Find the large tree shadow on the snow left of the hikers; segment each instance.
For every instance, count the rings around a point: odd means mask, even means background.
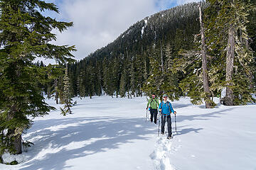
[[[28,149],[28,152],[31,152],[31,160],[24,162],[20,170],[64,169],[68,168],[65,162],[69,159],[106,152],[106,149],[116,149],[132,140],[149,140],[144,135],[153,134],[155,130],[143,120],[104,116],[35,121],[32,131],[26,135],[26,140],[35,144]],[[57,149],[57,152],[46,153],[40,157],[45,149]]]

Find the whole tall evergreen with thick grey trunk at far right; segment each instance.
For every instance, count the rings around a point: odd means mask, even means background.
[[[255,68],[252,67],[252,50],[247,45],[246,25],[253,6],[244,0],[209,0],[208,2],[210,3],[206,10],[208,45],[212,50],[214,60],[218,61],[210,71],[213,75],[210,81],[213,81],[216,89],[226,87],[225,105],[252,102],[254,99],[250,95],[253,93],[250,84]],[[220,67],[220,63],[223,63],[221,66],[225,68]],[[223,77],[220,75],[222,72],[225,72],[225,82],[222,81]],[[214,81],[217,81],[219,85]]]

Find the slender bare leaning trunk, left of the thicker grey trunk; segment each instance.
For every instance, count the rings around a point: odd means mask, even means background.
[[[200,17],[200,26],[201,26],[201,53],[202,53],[202,69],[203,69],[203,91],[206,94],[206,108],[212,108],[210,104],[210,87],[208,79],[208,70],[207,70],[207,58],[206,58],[206,40],[205,33],[203,28],[201,6],[199,5],[199,17]]]

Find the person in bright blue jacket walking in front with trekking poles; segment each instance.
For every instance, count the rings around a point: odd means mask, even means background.
[[[159,112],[161,113],[161,134],[164,135],[164,125],[167,121],[168,127],[168,137],[167,139],[171,139],[171,113],[176,114],[174,108],[172,108],[171,103],[167,101],[168,96],[164,94],[163,101],[159,104]]]

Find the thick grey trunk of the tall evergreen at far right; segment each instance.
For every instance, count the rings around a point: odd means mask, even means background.
[[[233,91],[230,88],[232,86],[232,74],[234,67],[234,58],[235,58],[235,27],[233,24],[228,28],[228,50],[227,50],[227,58],[226,58],[226,77],[225,81],[227,82],[227,91],[225,96],[225,105],[233,106]]]

